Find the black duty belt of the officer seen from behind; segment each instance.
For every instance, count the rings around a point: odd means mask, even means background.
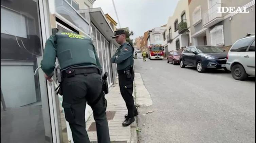
[[[100,70],[97,67],[88,67],[88,68],[73,68],[73,69],[67,69],[62,71],[61,76],[63,78],[66,77],[74,77],[75,75],[81,75],[81,74],[100,74]]]

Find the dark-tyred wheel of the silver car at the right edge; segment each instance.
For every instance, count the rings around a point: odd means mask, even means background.
[[[236,64],[232,66],[231,74],[232,74],[232,77],[236,80],[245,80],[248,77],[243,66],[240,64]]]

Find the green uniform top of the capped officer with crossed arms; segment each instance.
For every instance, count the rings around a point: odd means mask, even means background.
[[[128,42],[121,45],[111,57],[111,63],[117,64],[117,70],[133,66],[133,48]]]

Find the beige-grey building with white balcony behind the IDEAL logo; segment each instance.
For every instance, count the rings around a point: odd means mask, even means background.
[[[192,45],[226,51],[246,33],[255,33],[255,0],[189,0]],[[249,13],[218,13],[218,7],[246,7]]]

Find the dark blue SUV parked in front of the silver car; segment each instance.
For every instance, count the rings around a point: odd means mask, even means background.
[[[196,67],[199,73],[207,68],[223,68],[226,71],[227,53],[215,46],[190,46],[183,50],[180,56],[180,67],[186,65]]]

